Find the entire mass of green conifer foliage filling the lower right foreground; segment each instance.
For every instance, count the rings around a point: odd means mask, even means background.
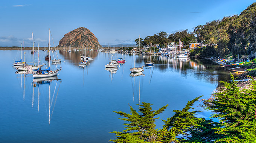
[[[139,113],[130,106],[130,114],[115,112],[125,118],[125,130],[114,131],[115,143],[256,143],[256,81],[251,77],[249,88],[241,89],[231,75],[232,82],[223,82],[223,90],[206,100],[205,107],[219,122],[197,118],[192,106],[201,97],[187,102],[174,116],[163,120],[162,129],[155,129],[156,115],[168,105],[152,110],[150,103],[142,103]]]

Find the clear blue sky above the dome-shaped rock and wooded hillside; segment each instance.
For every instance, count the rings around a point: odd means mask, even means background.
[[[253,0],[2,0],[0,46],[54,45],[64,34],[89,29],[102,45],[133,44],[164,31],[168,34],[223,17],[239,15]]]

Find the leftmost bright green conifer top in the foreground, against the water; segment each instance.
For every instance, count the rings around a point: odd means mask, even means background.
[[[157,138],[157,130],[155,129],[154,122],[156,119],[159,118],[154,117],[162,113],[168,105],[165,105],[156,111],[152,111],[151,105],[152,104],[150,103],[142,102],[142,105],[140,105],[141,107],[139,107],[139,112],[142,114],[137,113],[137,111],[134,110],[131,106],[131,114],[127,114],[121,111],[115,112],[120,116],[125,117],[119,119],[127,121],[129,123],[123,124],[126,126],[126,129],[123,130],[123,132],[111,132],[116,134],[118,137],[116,140],[110,141],[114,141],[116,143],[126,143],[129,142],[131,136],[135,136],[132,138],[136,138],[136,140],[141,140],[141,142],[153,142]]]

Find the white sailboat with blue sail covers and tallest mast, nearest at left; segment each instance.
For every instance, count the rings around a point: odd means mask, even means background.
[[[50,28],[49,28],[49,51],[50,51]],[[49,56],[50,56],[50,52],[49,52]],[[57,68],[56,70],[51,70],[50,69],[50,60],[49,60],[48,64],[49,64],[49,67],[45,70],[41,70],[41,68],[38,68],[38,70],[36,70],[38,72],[33,74],[33,77],[34,78],[48,78],[48,77],[58,75],[58,71],[61,70],[61,68],[60,69]],[[55,65],[56,65],[56,63],[55,63]],[[57,67],[57,65],[56,65],[56,67]]]

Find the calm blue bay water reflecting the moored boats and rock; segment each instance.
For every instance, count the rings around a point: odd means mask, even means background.
[[[25,61],[32,62],[30,51],[25,52]],[[219,80],[229,79],[229,73],[209,61],[162,56],[151,57],[154,67],[131,77],[132,55],[123,55],[126,63],[118,69],[107,70],[104,65],[110,53],[89,51],[94,60],[84,68],[78,66],[80,53],[58,51],[62,59],[58,80],[33,87],[31,74],[15,73],[12,67],[20,51],[0,50],[0,142],[106,143],[115,138],[110,131],[124,130],[124,122],[113,111],[130,113],[129,104],[137,109],[136,104],[142,102],[153,104],[153,110],[169,104],[160,114],[160,119],[166,120],[174,114],[172,110],[182,109],[195,97],[209,97]],[[45,55],[40,50],[41,62],[46,63]],[[121,57],[113,55],[115,59]],[[141,57],[142,64],[148,60]],[[135,61],[138,66],[138,55]],[[208,118],[210,114],[204,111],[197,116]],[[162,128],[163,122],[157,120],[156,124]]]

